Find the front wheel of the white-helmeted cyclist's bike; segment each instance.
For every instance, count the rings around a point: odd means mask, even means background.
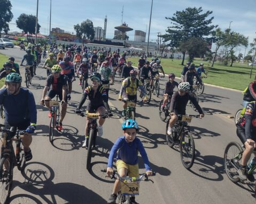
[[[189,131],[184,131],[180,138],[180,158],[183,166],[189,169],[195,160],[195,141]],[[186,141],[187,139],[187,141]],[[185,158],[188,158],[187,161]]]

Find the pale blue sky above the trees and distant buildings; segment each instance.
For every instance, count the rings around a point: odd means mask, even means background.
[[[38,0],[38,23],[43,35],[49,33],[50,0]],[[13,19],[10,23],[11,31],[20,31],[15,21],[21,13],[36,15],[37,0],[10,0],[12,4]],[[133,31],[127,32],[129,40],[134,40],[134,30],[147,31],[150,19],[150,0],[52,0],[51,27],[61,28],[74,32],[74,25],[80,24],[86,19],[93,22],[94,27],[104,28],[104,20],[107,15],[106,38],[114,37],[116,26],[126,22]],[[165,17],[172,17],[176,11],[185,10],[187,7],[202,7],[203,12],[212,11],[214,16],[212,24],[219,25],[225,30],[229,27],[235,32],[249,37],[249,43],[256,38],[256,1],[255,0],[153,0],[149,41],[157,40],[157,32],[166,33],[171,21]],[[230,23],[231,22],[231,23]],[[241,52],[242,49],[239,47]]]

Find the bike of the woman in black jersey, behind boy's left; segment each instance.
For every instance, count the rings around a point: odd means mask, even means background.
[[[89,138],[86,140],[86,147],[87,147],[87,160],[86,160],[86,169],[88,171],[91,171],[91,160],[92,160],[92,150],[95,149],[96,146],[96,138],[97,138],[97,132],[98,132],[98,124],[97,119],[99,119],[99,113],[88,113],[87,111],[85,113],[80,113],[82,117],[90,118],[88,123],[88,133],[86,135],[89,135]],[[105,115],[102,116],[103,118],[109,117],[108,112],[106,112]]]

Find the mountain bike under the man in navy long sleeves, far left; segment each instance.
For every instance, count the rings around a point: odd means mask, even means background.
[[[4,127],[4,125],[0,125]],[[8,199],[12,190],[13,168],[18,167],[19,171],[25,168],[25,152],[22,147],[20,135],[25,134],[26,131],[15,130],[14,127],[2,130],[1,141],[2,154],[0,162],[0,203],[9,203]],[[12,141],[16,143],[16,151],[14,152]]]

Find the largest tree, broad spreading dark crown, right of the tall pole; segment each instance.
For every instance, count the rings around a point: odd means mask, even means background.
[[[201,38],[210,43],[213,38],[209,37],[209,35],[212,34],[213,29],[218,25],[211,25],[214,17],[206,19],[212,14],[212,11],[202,12],[202,7],[188,7],[183,11],[177,11],[171,18],[165,17],[165,19],[171,20],[171,24],[173,25],[166,29],[167,33],[165,35],[162,35],[164,42],[170,41],[168,46],[172,48],[178,48],[182,41],[187,41],[192,37]],[[181,64],[183,65],[185,52],[182,52],[182,54]]]

